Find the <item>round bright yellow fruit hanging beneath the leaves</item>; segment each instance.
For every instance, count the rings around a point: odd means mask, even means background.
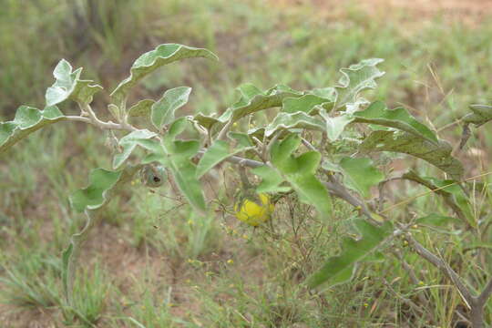
[[[270,201],[270,197],[265,193],[259,194],[256,200],[244,198],[234,205],[236,218],[253,227],[269,220],[273,209],[274,206]]]

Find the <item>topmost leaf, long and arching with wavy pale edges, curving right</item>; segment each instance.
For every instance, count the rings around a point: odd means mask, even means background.
[[[118,87],[111,93],[111,97],[115,103],[119,105],[125,97],[128,90],[135,86],[143,77],[147,77],[150,73],[167,65],[184,58],[204,57],[212,60],[219,60],[210,50],[203,48],[195,48],[178,44],[164,44],[157,46],[137,58],[130,68],[130,76],[125,78]]]

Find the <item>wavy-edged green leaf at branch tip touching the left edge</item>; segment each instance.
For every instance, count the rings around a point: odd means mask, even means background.
[[[0,123],[0,154],[39,128],[66,119],[56,106],[44,110],[21,106],[12,121]]]

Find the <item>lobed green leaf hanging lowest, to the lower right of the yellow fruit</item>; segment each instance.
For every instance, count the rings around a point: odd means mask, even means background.
[[[393,231],[389,221],[377,227],[365,220],[354,220],[354,225],[361,234],[361,238],[355,241],[345,237],[342,241],[340,255],[333,256],[323,264],[323,267],[308,278],[310,288],[316,288],[323,284],[329,288],[335,284],[348,282],[355,270],[358,261],[363,261],[369,256]]]

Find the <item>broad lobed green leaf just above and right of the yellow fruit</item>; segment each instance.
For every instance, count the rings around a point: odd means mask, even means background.
[[[332,201],[323,183],[315,177],[321,154],[308,151],[294,157],[293,152],[300,144],[301,138],[295,134],[276,141],[272,145],[272,165],[292,185],[302,202],[314,205],[319,214],[326,217],[332,212]]]

